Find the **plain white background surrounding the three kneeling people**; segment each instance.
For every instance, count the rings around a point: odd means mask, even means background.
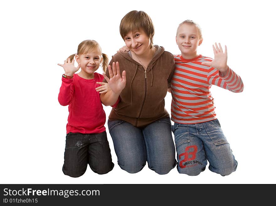
[[[275,7],[271,1],[5,1],[1,3],[0,182],[86,184],[276,183]],[[62,171],[68,106],[57,100],[63,69],[57,63],[86,39],[111,56],[124,45],[119,24],[143,10],[154,26],[154,44],[178,54],[175,34],[186,19],[199,23],[199,53],[214,57],[212,44],[227,45],[228,65],[245,85],[239,94],[213,86],[217,117],[238,161],[236,172],[199,176],[176,168],[158,175],[147,165],[136,174],[121,170],[108,133],[113,171],[79,178]],[[273,20],[274,19],[274,20]],[[99,69],[97,72],[102,73]],[[166,97],[170,111],[171,96]],[[274,105],[274,106],[273,106]],[[107,117],[110,107],[104,107]],[[107,128],[107,124],[105,125]]]

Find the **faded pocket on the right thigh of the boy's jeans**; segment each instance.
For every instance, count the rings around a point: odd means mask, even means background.
[[[203,124],[207,134],[215,145],[229,144],[226,137],[224,136],[218,120],[215,119],[209,122],[204,122]]]

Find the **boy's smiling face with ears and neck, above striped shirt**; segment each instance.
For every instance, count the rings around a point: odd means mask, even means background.
[[[198,56],[197,47],[203,39],[200,38],[199,30],[194,24],[184,23],[180,25],[175,40],[183,58],[193,59]]]

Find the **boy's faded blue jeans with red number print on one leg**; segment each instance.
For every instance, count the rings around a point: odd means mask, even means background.
[[[179,173],[199,175],[205,170],[207,160],[209,170],[222,176],[236,171],[238,162],[217,119],[197,124],[175,123],[172,131]]]

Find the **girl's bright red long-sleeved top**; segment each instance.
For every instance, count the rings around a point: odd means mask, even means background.
[[[69,116],[66,133],[101,133],[105,131],[105,112],[96,87],[104,76],[94,73],[94,79],[83,79],[77,74],[73,79],[62,78],[58,101],[68,106]]]

